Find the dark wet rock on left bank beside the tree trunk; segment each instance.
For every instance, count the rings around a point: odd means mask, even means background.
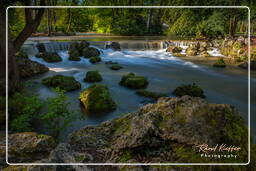
[[[49,71],[45,65],[31,61],[29,58],[16,58],[16,60],[21,78],[29,78]]]

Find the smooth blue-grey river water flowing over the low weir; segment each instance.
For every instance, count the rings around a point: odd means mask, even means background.
[[[55,96],[49,88],[40,85],[40,81],[48,76],[63,74],[74,76],[82,85],[81,90],[68,92],[70,108],[77,112],[77,118],[72,120],[72,124],[61,132],[60,140],[65,141],[67,135],[86,125],[97,125],[103,121],[110,120],[128,112],[137,110],[141,105],[148,103],[148,99],[135,94],[131,90],[120,86],[118,83],[122,75],[129,72],[146,76],[149,80],[148,90],[168,93],[181,84],[196,83],[205,91],[207,100],[214,103],[225,103],[235,106],[244,119],[248,118],[248,77],[232,69],[223,72],[222,68],[213,68],[205,65],[183,61],[165,52],[167,46],[165,41],[145,41],[145,40],[122,40],[120,41],[122,51],[104,49],[106,41],[90,41],[91,46],[97,47],[101,51],[102,62],[91,64],[88,59],[81,58],[81,61],[69,61],[67,49],[69,41],[44,41],[47,51],[58,52],[63,61],[58,63],[47,63],[34,55],[37,53],[35,44],[37,41],[30,40],[25,43],[24,49],[29,53],[30,59],[45,64],[50,71],[30,79],[34,87],[33,91],[46,99]],[[180,46],[187,47],[188,43],[180,43]],[[220,55],[217,49],[210,53],[215,56]],[[106,61],[118,62],[123,69],[113,71],[104,63]],[[114,112],[87,115],[80,108],[78,100],[79,93],[90,86],[90,83],[83,82],[85,74],[89,70],[98,70],[102,77],[102,84],[108,86],[111,96],[117,103]],[[225,70],[225,69],[224,69]],[[256,82],[255,79],[251,80]],[[255,98],[255,96],[252,96]],[[255,111],[255,101],[251,108]],[[253,118],[255,121],[255,118]],[[255,127],[253,126],[255,132]]]

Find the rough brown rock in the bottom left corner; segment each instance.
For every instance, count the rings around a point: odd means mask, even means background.
[[[11,163],[29,163],[46,158],[57,145],[53,137],[35,132],[9,134],[8,143],[8,161]],[[0,146],[0,156],[5,154],[2,148],[5,147]]]

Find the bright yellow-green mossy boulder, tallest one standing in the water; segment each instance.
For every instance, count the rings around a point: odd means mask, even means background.
[[[91,85],[80,94],[79,100],[89,113],[110,112],[116,109],[116,104],[105,85]]]

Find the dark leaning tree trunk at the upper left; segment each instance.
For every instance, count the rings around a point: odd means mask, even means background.
[[[29,5],[36,5],[33,4],[37,3],[37,1],[19,1],[19,0],[10,0],[7,3],[0,1],[0,33],[2,40],[5,40],[5,33],[6,33],[6,17],[5,17],[5,11],[6,8],[10,5],[14,5],[15,3],[23,3],[23,5],[29,6]],[[40,0],[39,3],[41,6],[45,5],[45,0]],[[37,29],[37,27],[40,24],[40,21],[42,19],[42,16],[44,14],[44,8],[39,9],[32,9],[32,8],[25,8],[25,27],[20,32],[20,34],[12,40],[10,36],[8,37],[8,91],[14,92],[17,85],[19,84],[19,72],[17,69],[17,63],[15,59],[15,53],[17,50],[20,49],[22,44],[25,42],[25,40]],[[5,57],[6,57],[6,41],[0,42],[0,64],[1,64],[1,79],[5,79]]]

